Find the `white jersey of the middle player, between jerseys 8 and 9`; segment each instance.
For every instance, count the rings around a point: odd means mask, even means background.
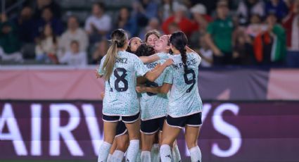
[[[146,64],[149,70],[155,68],[158,63],[164,63],[165,60],[155,61]],[[160,87],[163,83],[170,83],[170,67],[165,68],[163,73],[155,80],[155,82],[146,82],[146,87]],[[142,93],[140,100],[141,106],[141,120],[151,120],[154,118],[161,118],[167,115],[168,94],[153,94],[150,92]]]

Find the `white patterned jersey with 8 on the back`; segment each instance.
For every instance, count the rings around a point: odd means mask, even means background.
[[[98,69],[100,75],[103,57]],[[105,97],[103,99],[103,114],[106,116],[134,116],[139,113],[139,101],[136,94],[136,75],[144,76],[148,68],[134,54],[119,51],[115,58],[115,66],[109,80],[105,81]]]

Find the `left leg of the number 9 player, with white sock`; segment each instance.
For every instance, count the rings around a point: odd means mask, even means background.
[[[172,118],[167,116],[163,126],[162,145],[160,147],[160,158],[162,162],[171,162],[171,146],[184,125],[184,118]]]

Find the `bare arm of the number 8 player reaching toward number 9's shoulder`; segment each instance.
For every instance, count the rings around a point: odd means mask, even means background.
[[[147,80],[154,82],[163,73],[165,68],[167,68],[167,66],[171,66],[172,63],[173,61],[170,58],[167,61],[165,61],[165,63],[163,63],[162,65],[158,64],[157,66],[155,66],[155,68],[149,71],[148,73],[146,73],[144,77],[146,77]]]

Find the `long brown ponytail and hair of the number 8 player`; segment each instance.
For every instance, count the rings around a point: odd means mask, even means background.
[[[103,63],[102,70],[104,71],[104,78],[108,80],[110,75],[113,73],[113,67],[115,64],[115,58],[117,58],[117,48],[122,48],[126,44],[127,35],[125,30],[118,29],[114,30],[111,34],[111,45],[107,51],[106,59]]]

